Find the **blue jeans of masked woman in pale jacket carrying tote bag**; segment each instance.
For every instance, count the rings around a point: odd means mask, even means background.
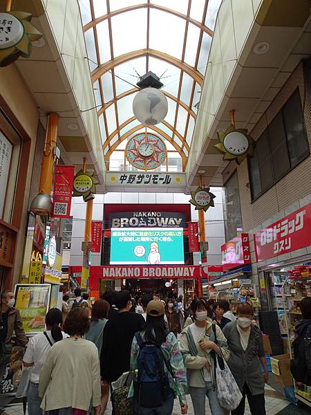
[[[209,407],[213,415],[224,415],[224,409],[220,407],[217,390],[211,382],[205,382],[205,387],[189,387],[189,392],[194,405],[194,415],[205,415],[205,396],[209,400]]]

